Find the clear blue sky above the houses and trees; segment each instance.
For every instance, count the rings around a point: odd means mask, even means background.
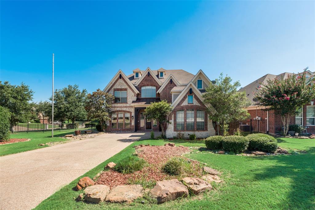
[[[267,73],[315,71],[314,1],[1,1],[0,80],[34,101],[78,84],[103,89],[135,68],[220,72],[242,86]]]

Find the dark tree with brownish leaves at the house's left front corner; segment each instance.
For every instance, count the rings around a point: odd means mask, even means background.
[[[88,119],[98,120],[100,126],[105,130],[105,122],[110,120],[109,108],[112,107],[114,96],[97,89],[92,94],[88,94],[85,110]]]

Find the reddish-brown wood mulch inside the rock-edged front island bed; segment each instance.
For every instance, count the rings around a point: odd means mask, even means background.
[[[145,159],[149,166],[144,167],[140,171],[130,174],[122,174],[114,170],[108,170],[101,173],[96,184],[105,184],[111,189],[123,184],[130,184],[134,180],[146,179],[146,181],[162,181],[164,179],[174,179],[176,176],[171,176],[164,173],[161,167],[169,158],[180,156],[181,154],[191,151],[188,147],[171,147],[171,146],[144,146],[139,149],[138,156]],[[192,167],[199,167],[199,162],[191,161]],[[199,171],[200,175],[202,171]]]

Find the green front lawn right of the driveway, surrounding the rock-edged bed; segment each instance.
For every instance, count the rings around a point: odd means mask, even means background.
[[[115,156],[93,168],[83,176],[40,203],[35,209],[315,209],[315,140],[279,139],[279,146],[306,153],[278,156],[217,155],[206,151],[186,156],[222,172],[224,183],[198,199],[184,198],[160,205],[86,204],[74,198],[82,191],[73,191],[84,176],[94,177],[108,162],[118,162],[132,154],[133,145],[163,145],[168,141],[137,141]],[[176,145],[202,146],[200,141],[172,141]]]

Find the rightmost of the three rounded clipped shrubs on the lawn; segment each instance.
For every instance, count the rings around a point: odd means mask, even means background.
[[[267,134],[254,133],[245,137],[249,140],[248,150],[274,152],[278,148],[277,140]]]

